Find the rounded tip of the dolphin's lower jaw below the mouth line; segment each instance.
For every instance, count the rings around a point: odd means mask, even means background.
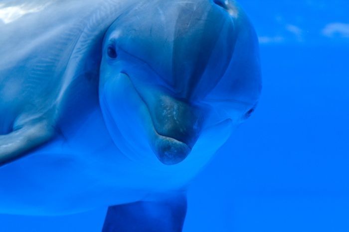
[[[174,138],[162,136],[156,132],[156,140],[153,146],[158,159],[166,165],[174,165],[183,161],[191,152],[191,148]]]

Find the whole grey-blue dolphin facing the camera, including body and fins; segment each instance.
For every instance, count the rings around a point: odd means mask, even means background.
[[[260,95],[238,4],[4,0],[0,11],[0,213],[115,205],[104,231],[139,217],[135,231],[151,231],[148,211],[180,231],[185,186]]]

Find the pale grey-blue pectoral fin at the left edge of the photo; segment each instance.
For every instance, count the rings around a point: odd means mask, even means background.
[[[52,136],[53,128],[45,121],[0,135],[0,166],[45,143]]]

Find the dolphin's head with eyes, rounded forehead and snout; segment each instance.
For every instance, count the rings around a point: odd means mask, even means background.
[[[217,150],[254,110],[260,89],[256,36],[232,1],[143,1],[105,35],[101,108],[132,159],[177,164],[208,130],[204,146]]]

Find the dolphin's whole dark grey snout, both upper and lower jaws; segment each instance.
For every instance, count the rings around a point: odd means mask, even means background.
[[[154,143],[157,157],[164,164],[179,163],[191,152],[200,135],[201,110],[187,102],[161,95],[151,111],[158,134]]]

